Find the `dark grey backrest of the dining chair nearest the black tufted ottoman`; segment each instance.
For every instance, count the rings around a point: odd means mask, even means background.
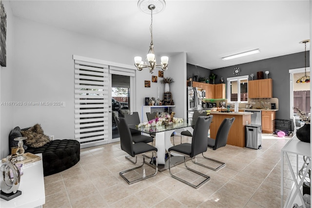
[[[130,129],[124,118],[115,118],[120,136],[121,149],[134,157],[133,142]]]

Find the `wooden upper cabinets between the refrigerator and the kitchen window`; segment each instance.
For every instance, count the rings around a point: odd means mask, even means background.
[[[193,82],[193,87],[200,87],[206,91],[206,98],[225,99],[225,84],[209,84]]]

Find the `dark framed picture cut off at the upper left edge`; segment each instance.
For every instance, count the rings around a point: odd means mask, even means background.
[[[6,13],[2,1],[0,1],[0,65],[6,66]]]

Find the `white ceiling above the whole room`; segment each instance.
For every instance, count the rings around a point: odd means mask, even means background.
[[[137,8],[137,0],[10,3],[20,18],[116,42],[141,56],[149,49],[151,17]],[[302,52],[299,42],[311,39],[309,25],[309,0],[166,0],[165,10],[153,15],[156,61],[186,52],[188,63],[215,69]],[[257,48],[258,54],[221,59]]]

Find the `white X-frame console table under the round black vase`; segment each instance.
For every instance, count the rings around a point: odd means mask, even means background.
[[[289,160],[289,154],[296,155],[296,170],[293,170],[291,162]],[[298,175],[298,156],[306,156],[308,160],[311,161],[311,152],[310,152],[310,143],[301,142],[298,140],[296,135],[282,148],[281,150],[281,208],[292,208],[294,203],[297,203],[299,206],[303,205],[306,208],[302,192],[300,188],[304,182],[304,178],[307,176],[308,170],[311,168],[311,162],[307,165],[305,172],[303,173],[302,178],[300,179]],[[284,205],[284,157],[286,159],[287,165],[292,173],[292,179],[294,181],[291,193],[286,199]]]

